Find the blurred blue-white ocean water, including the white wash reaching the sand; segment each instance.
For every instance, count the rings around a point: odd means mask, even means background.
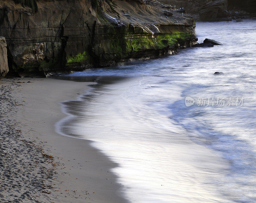
[[[95,83],[60,133],[119,163],[131,202],[256,202],[256,20],[196,32],[223,45],[62,76]]]

